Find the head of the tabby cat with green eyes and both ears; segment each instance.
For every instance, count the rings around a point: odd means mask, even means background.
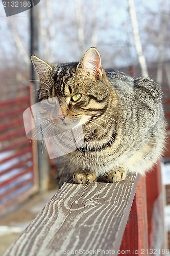
[[[40,78],[38,101],[45,100],[48,118],[68,129],[80,120],[95,125],[92,117],[106,111],[110,94],[98,50],[89,48],[80,62],[51,64],[36,56],[31,60]]]

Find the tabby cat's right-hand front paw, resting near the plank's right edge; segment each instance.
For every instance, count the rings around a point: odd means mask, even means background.
[[[125,180],[127,176],[127,173],[125,172],[124,168],[118,167],[110,171],[106,175],[106,180],[108,182],[118,182],[121,180]]]

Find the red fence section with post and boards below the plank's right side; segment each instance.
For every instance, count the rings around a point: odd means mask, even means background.
[[[167,252],[162,200],[158,163],[146,177],[140,177],[120,251],[130,250],[132,255],[163,255],[164,249]]]

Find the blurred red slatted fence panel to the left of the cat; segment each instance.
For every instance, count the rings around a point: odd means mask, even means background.
[[[22,117],[31,104],[30,88],[27,96],[0,103],[0,216],[37,190],[35,147]]]

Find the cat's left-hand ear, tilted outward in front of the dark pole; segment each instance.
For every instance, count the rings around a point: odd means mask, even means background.
[[[36,71],[38,72],[40,79],[43,79],[43,77],[49,75],[53,71],[53,66],[43,61],[42,59],[39,59],[38,57],[32,55],[31,60]]]

